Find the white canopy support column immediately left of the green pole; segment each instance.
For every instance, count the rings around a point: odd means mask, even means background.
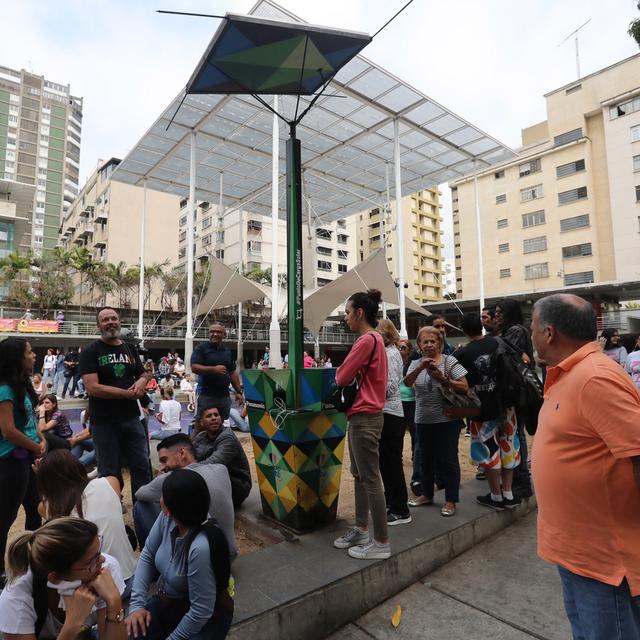
[[[273,109],[278,111],[278,96],[273,96]],[[269,367],[282,368],[280,352],[280,277],[278,273],[278,174],[280,161],[280,130],[278,116],[273,114],[271,144],[271,325],[269,326]]]

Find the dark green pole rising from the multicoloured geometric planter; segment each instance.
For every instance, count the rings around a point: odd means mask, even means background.
[[[287,315],[289,319],[289,369],[293,378],[294,406],[298,407],[302,371],[304,323],[302,309],[302,177],[300,140],[295,124],[287,140]]]

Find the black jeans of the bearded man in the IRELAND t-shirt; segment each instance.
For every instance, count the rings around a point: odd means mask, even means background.
[[[115,476],[122,482],[122,458],[126,457],[131,473],[131,497],[151,482],[149,440],[139,417],[110,424],[91,424],[91,434],[98,456],[98,475]]]

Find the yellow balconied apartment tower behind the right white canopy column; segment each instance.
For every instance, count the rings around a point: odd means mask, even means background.
[[[440,192],[425,189],[402,198],[404,275],[407,294],[418,304],[436,302],[444,295]],[[397,217],[395,201],[391,211],[376,208],[357,216],[358,259],[384,248],[389,272],[398,277]]]

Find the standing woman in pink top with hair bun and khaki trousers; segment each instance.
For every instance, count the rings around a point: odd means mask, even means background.
[[[334,540],[337,549],[348,549],[353,558],[388,558],[387,506],[384,498],[378,448],[382,433],[382,408],[386,398],[387,355],[382,336],[374,331],[381,295],[376,289],[354,293],[345,306],[344,320],[359,333],[345,361],[336,370],[336,383],[345,386],[357,376],[360,388],[347,409],[351,473],[355,483],[356,525]],[[368,532],[369,513],[373,537]]]

